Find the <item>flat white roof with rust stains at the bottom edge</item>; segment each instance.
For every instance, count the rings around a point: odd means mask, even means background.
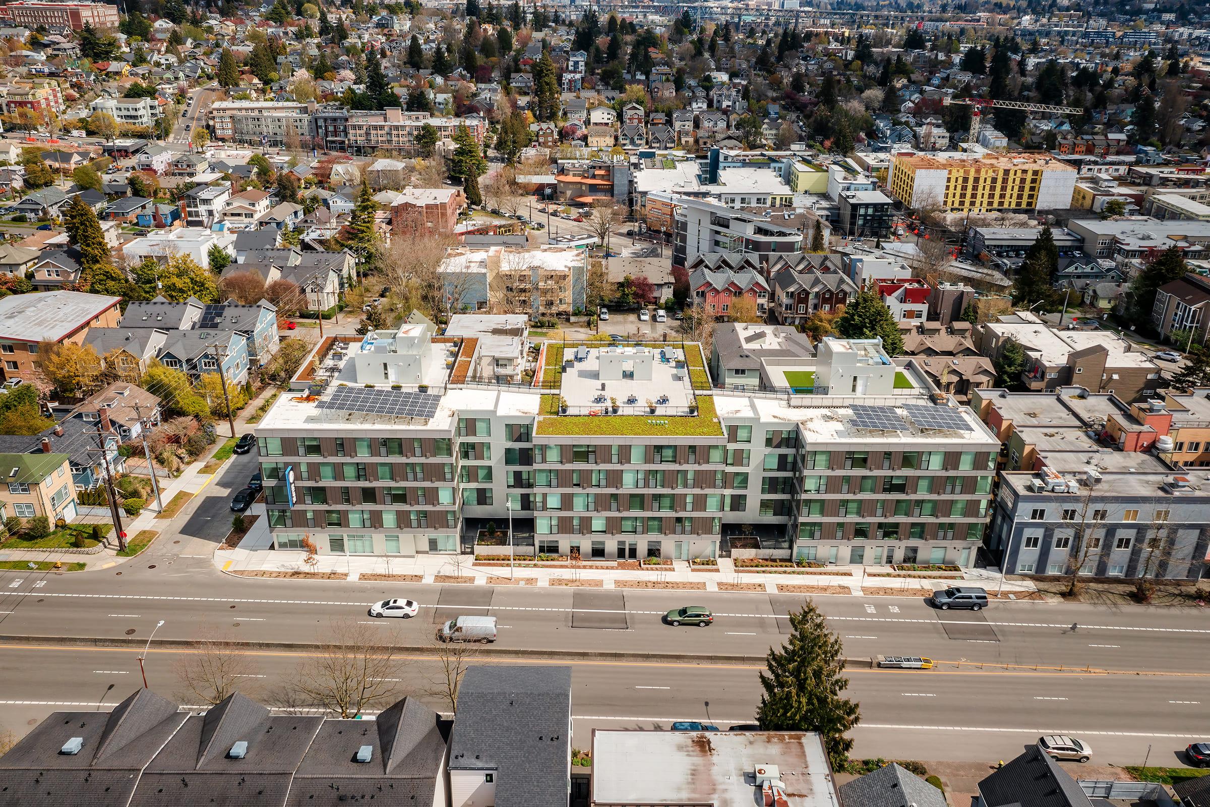
[[[776,767],[794,807],[839,807],[814,732],[593,732],[598,805],[761,805],[756,768]]]

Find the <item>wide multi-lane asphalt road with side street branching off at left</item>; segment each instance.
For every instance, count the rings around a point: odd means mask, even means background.
[[[759,665],[718,657],[759,657],[779,645],[788,630],[784,615],[805,599],[223,575],[209,558],[227,532],[231,494],[254,469],[254,457],[234,457],[134,561],[75,575],[0,572],[0,635],[139,639],[165,619],[157,640],[218,633],[249,641],[311,642],[330,630],[333,618],[347,617],[368,622],[385,640],[408,646],[427,645],[438,621],[489,612],[500,623],[496,650],[581,653],[571,659],[574,713],[577,742],[587,745],[597,726],[749,720],[760,694]],[[386,596],[417,600],[422,605],[419,617],[403,622],[368,617],[367,606]],[[854,733],[855,753],[863,756],[997,760],[1042,733],[1070,732],[1093,744],[1097,761],[1137,763],[1148,744],[1156,759],[1157,753],[1183,748],[1199,732],[1210,733],[1204,720],[1208,701],[1200,693],[1210,657],[1210,623],[1203,610],[1004,603],[980,613],[956,613],[935,611],[916,598],[819,596],[814,601],[851,657],[910,653],[947,662],[929,671],[851,673],[851,692],[863,711]],[[685,604],[711,607],[715,624],[662,624],[663,612]],[[1073,622],[1079,626],[1076,632]],[[699,658],[603,662],[603,651]],[[154,688],[180,694],[173,668],[182,655],[151,651],[149,682]],[[138,649],[129,647],[0,646],[0,681],[5,682],[0,727],[21,734],[30,720],[68,708],[52,702],[111,704],[121,699],[140,682],[137,656]],[[299,663],[293,652],[257,653],[253,659],[259,668],[255,675],[265,678],[249,679],[249,691],[269,701],[273,692],[265,685],[288,680]],[[497,661],[488,655],[484,659]],[[424,668],[424,661],[408,662],[401,686],[410,688],[401,694],[426,688]],[[1071,668],[1114,673],[1082,674]],[[421,682],[419,688],[414,681]]]

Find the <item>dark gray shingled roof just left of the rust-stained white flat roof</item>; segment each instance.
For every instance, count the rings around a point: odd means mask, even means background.
[[[570,667],[472,667],[457,694],[453,771],[501,771],[496,807],[567,799]]]

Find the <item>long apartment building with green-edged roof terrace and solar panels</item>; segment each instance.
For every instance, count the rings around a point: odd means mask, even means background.
[[[255,431],[278,548],[454,552],[511,517],[522,554],[974,561],[999,444],[877,340],[765,361],[806,394],[711,394],[696,344],[547,344],[534,386],[485,387],[474,342],[319,348]]]

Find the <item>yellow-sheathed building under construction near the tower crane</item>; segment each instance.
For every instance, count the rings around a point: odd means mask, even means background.
[[[1047,154],[898,154],[887,186],[909,207],[1067,209],[1077,171]]]

